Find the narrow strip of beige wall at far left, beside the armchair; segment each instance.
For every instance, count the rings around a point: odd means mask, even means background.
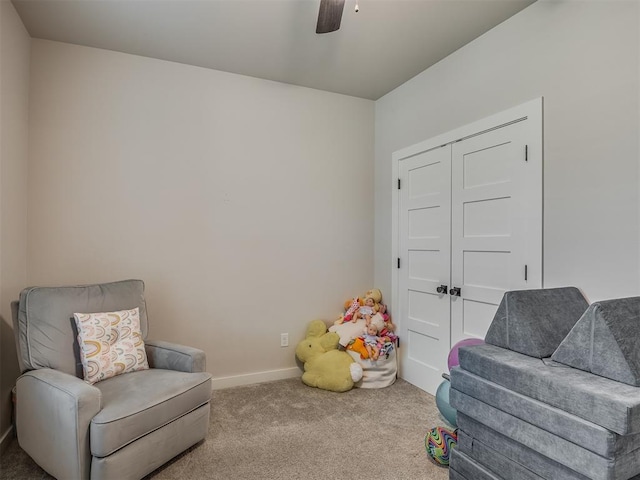
[[[11,300],[27,275],[30,38],[13,5],[0,2],[0,450],[11,426],[18,363]]]

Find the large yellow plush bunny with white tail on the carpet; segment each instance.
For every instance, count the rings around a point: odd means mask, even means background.
[[[344,351],[338,350],[340,337],[328,333],[322,320],[313,320],[307,337],[296,346],[296,357],[304,363],[302,381],[310,387],[332,392],[351,390],[362,378],[362,366]]]

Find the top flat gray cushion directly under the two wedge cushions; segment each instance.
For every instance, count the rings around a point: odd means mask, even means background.
[[[640,433],[640,388],[493,345],[463,347],[460,367],[620,435]]]

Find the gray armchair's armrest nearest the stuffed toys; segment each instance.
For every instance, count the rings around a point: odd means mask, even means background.
[[[206,356],[202,350],[161,340],[145,340],[147,360],[151,368],[179,372],[204,372]]]

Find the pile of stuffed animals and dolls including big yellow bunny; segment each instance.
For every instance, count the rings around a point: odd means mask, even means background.
[[[377,332],[377,345],[373,351],[365,344],[369,324],[374,324]],[[362,379],[363,369],[344,350],[358,352],[361,359],[371,361],[386,358],[397,340],[394,329],[382,303],[382,293],[377,288],[363,297],[347,300],[344,312],[329,332],[324,321],[314,320],[307,328],[306,338],[296,346],[296,357],[304,363],[302,381],[311,387],[334,392],[350,390]]]

